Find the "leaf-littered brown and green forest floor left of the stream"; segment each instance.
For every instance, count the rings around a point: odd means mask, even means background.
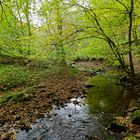
[[[11,128],[28,131],[36,119],[48,116],[53,105],[63,106],[73,97],[85,97],[88,77],[110,69],[102,60],[76,62],[83,71],[73,66],[24,65],[0,65],[0,140],[15,139]],[[136,128],[139,135],[139,126],[131,125],[127,116],[118,120]]]

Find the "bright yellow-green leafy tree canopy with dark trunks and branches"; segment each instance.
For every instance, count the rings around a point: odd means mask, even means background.
[[[134,74],[139,9],[136,0],[1,0],[0,55],[58,63],[103,58]]]

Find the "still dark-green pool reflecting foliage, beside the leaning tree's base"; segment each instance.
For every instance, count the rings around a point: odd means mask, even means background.
[[[89,79],[88,83],[94,87],[88,90],[86,99],[92,113],[106,112],[122,115],[130,103],[129,93],[116,81],[103,76]]]

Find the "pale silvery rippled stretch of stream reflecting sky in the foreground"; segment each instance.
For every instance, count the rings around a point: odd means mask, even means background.
[[[102,140],[118,140],[89,113],[83,102],[74,98],[63,107],[55,106],[50,117],[37,120],[29,132],[19,130],[17,140],[89,140],[92,135]]]

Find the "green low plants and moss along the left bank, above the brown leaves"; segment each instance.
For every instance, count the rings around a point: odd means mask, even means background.
[[[38,91],[40,85],[44,84],[43,82],[46,78],[59,75],[75,77],[77,73],[78,70],[76,68],[66,64],[55,65],[55,67],[52,66],[48,69],[34,69],[19,65],[1,65],[0,90],[3,95],[0,97],[0,103],[28,101]]]

